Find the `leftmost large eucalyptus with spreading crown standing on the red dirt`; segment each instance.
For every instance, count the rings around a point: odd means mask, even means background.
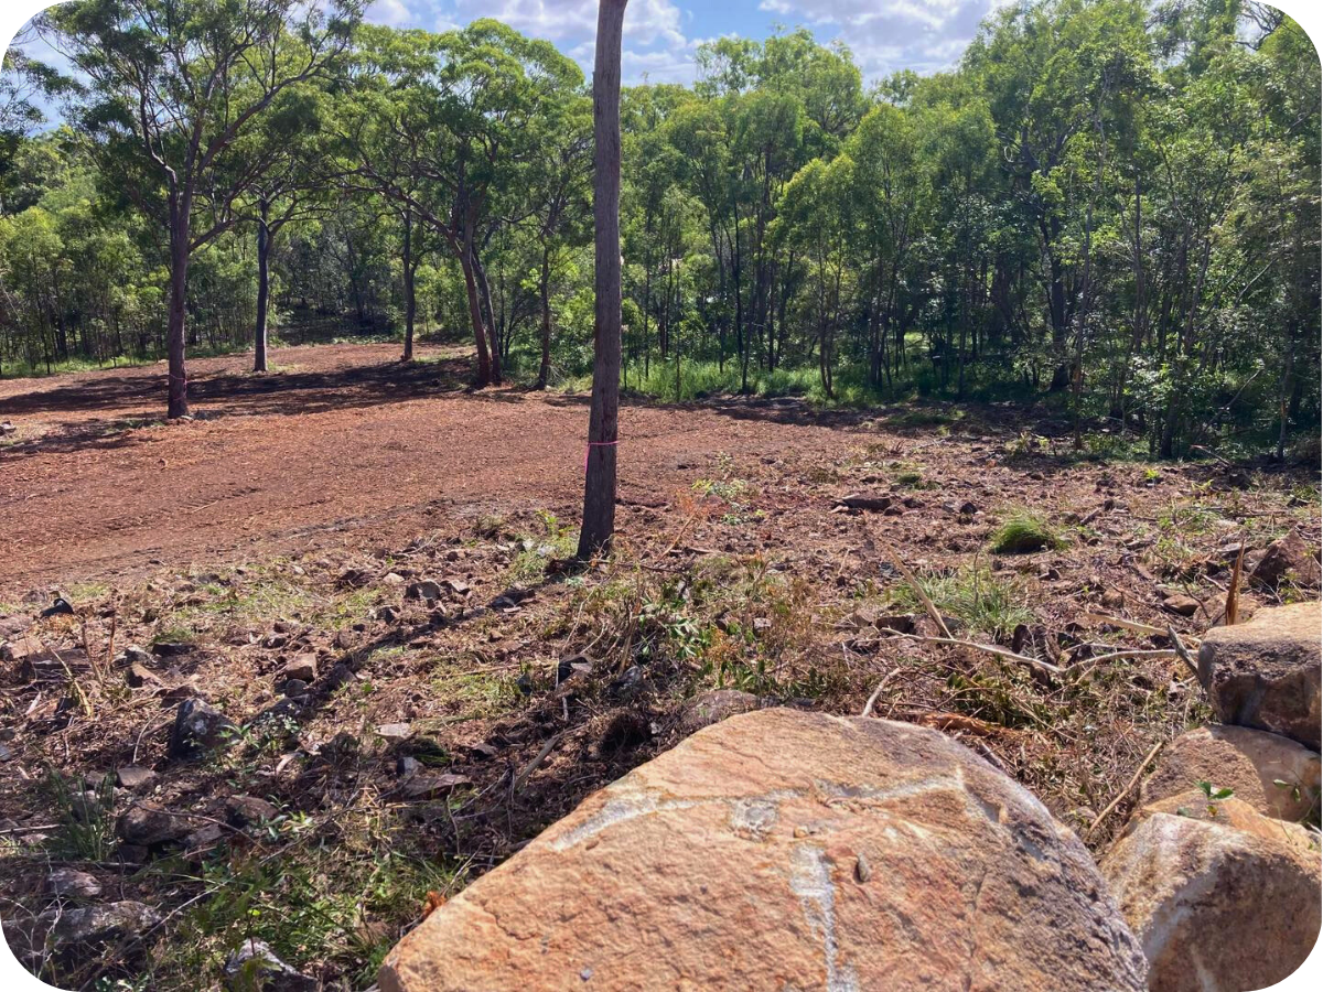
[[[193,254],[239,220],[261,176],[234,143],[282,94],[335,73],[363,0],[66,0],[49,22],[86,79],[74,119],[103,177],[168,241],[168,415],[188,414]]]

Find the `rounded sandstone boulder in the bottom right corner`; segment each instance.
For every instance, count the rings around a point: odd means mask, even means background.
[[[1140,811],[1102,861],[1143,943],[1148,988],[1256,992],[1285,981],[1319,938],[1316,843],[1236,799],[1185,802],[1196,803],[1189,815]]]

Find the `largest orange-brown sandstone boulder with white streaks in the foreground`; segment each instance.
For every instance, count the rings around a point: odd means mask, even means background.
[[[934,730],[763,709],[433,913],[382,992],[1144,988],[1089,853]]]

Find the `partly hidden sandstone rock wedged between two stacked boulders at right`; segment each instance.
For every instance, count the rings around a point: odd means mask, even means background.
[[[1232,790],[1263,816],[1301,821],[1318,815],[1320,776],[1323,759],[1294,741],[1248,727],[1207,726],[1167,745],[1139,804],[1152,806],[1209,782],[1215,790]]]

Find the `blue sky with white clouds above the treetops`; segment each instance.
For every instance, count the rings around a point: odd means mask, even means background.
[[[630,0],[626,83],[693,82],[699,44],[722,34],[765,38],[777,24],[844,41],[867,79],[897,69],[931,73],[955,63],[979,21],[1007,0]],[[496,17],[556,42],[591,69],[597,0],[376,0],[368,19],[445,30]]]

